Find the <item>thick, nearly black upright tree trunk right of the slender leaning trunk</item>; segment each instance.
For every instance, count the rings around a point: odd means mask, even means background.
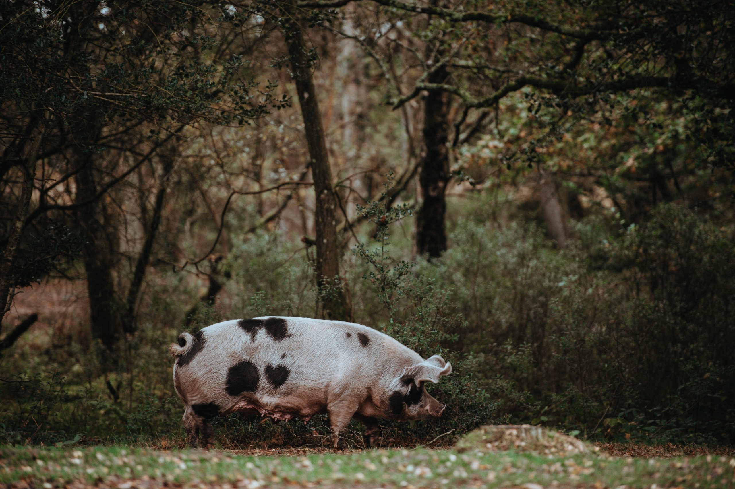
[[[429,83],[444,83],[446,68],[427,77]],[[416,247],[420,255],[441,256],[447,250],[444,214],[447,209],[445,190],[449,174],[449,109],[451,95],[431,91],[424,101],[423,148],[420,156],[419,183],[423,203],[416,214]]]

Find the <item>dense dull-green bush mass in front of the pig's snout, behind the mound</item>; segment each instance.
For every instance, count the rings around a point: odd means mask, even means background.
[[[423,277],[453,288],[497,415],[587,436],[731,441],[735,253],[678,206],[559,253],[531,226],[461,220]],[[614,227],[613,227],[614,229]]]

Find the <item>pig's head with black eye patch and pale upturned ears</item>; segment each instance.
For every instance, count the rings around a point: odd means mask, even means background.
[[[426,382],[438,383],[451,372],[452,364],[439,355],[407,367],[387,391],[386,414],[404,421],[442,416],[446,406],[426,392]]]

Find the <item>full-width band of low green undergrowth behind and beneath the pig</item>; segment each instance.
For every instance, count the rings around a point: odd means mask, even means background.
[[[678,206],[626,225],[576,225],[567,250],[533,224],[490,219],[482,203],[453,223],[440,259],[412,259],[395,233],[408,208],[365,206],[362,245],[343,260],[356,322],[454,372],[430,387],[442,419],[384,424],[384,446],[451,440],[479,424],[531,423],[580,437],[656,443],[735,440],[735,248],[728,230]],[[394,233],[395,236],[391,236]],[[279,233],[242,236],[220,264],[217,305],[184,317],[176,276],[150,286],[140,330],[110,365],[98,344],[2,360],[0,443],[182,443],[166,346],[184,329],[259,315],[319,316],[309,250]],[[182,292],[183,291],[183,292]],[[49,335],[52,334],[49,332]],[[221,446],[321,446],[328,421],[215,421]],[[349,441],[362,446],[359,424]]]

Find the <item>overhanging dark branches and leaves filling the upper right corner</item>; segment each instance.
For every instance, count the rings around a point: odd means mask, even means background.
[[[465,125],[466,120],[472,120],[472,112],[497,109],[503,99],[516,93],[526,96],[533,131],[513,148],[496,152],[493,163],[498,167],[528,164],[552,180],[562,177],[543,166],[539,157],[543,148],[573,126],[592,126],[596,123],[592,119],[606,120],[604,114],[617,104],[637,97],[645,100],[653,93],[683,101],[689,114],[689,137],[700,145],[711,165],[734,168],[735,80],[731,66],[735,65],[735,51],[731,46],[735,11],[722,4],[651,0],[607,1],[594,6],[571,2],[562,7],[535,1],[498,7],[461,0],[442,5],[401,0],[306,0],[298,5],[335,9],[347,3],[370,4],[362,8],[362,15],[372,19],[373,25],[383,26],[371,30],[366,21],[359,35],[352,37],[384,72],[395,108],[423,93],[451,94],[463,114],[456,125],[456,134],[460,134],[475,131],[470,123]],[[415,21],[420,17],[430,19],[428,27]],[[401,72],[393,69],[396,52],[404,49],[417,54],[415,46],[405,39],[395,39],[396,32],[405,31],[409,31],[409,38],[440,39],[435,51],[442,53],[440,59],[403,65]],[[444,35],[435,36],[436,32]],[[445,67],[451,68],[451,77],[439,77]],[[628,109],[634,110],[634,106]],[[462,176],[462,170],[458,167],[453,173]],[[544,177],[540,181],[550,180]],[[541,186],[539,193],[554,195],[549,189]],[[554,201],[542,198],[542,202]],[[442,217],[438,210],[433,214],[437,220]],[[556,223],[552,227],[558,231],[564,226]],[[561,238],[560,245],[565,240]]]

